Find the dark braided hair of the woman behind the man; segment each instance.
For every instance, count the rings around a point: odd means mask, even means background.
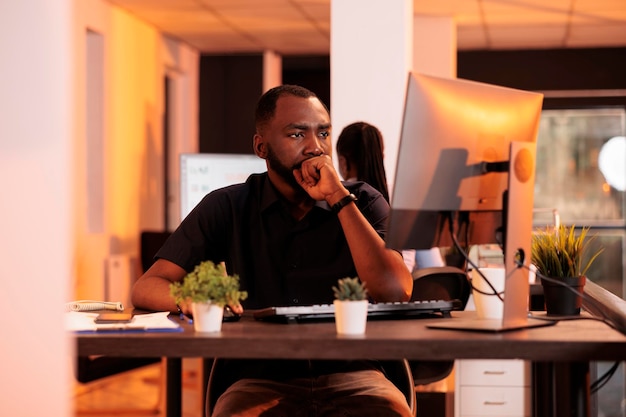
[[[356,167],[357,180],[376,188],[389,201],[383,146],[383,135],[376,126],[355,122],[339,134],[337,155],[343,156],[348,164]]]

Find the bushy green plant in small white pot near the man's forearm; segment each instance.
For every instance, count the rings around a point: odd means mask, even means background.
[[[239,305],[248,297],[239,290],[239,277],[228,275],[223,264],[204,261],[182,281],[170,284],[170,294],[177,304],[191,302],[196,331],[219,332],[225,306]]]

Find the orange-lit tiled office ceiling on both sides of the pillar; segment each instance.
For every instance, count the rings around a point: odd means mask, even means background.
[[[330,1],[109,0],[202,53],[282,55],[329,54]],[[454,17],[459,50],[626,46],[626,0],[413,3],[416,15]]]

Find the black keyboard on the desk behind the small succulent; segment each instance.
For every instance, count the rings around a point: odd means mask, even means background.
[[[368,320],[450,317],[450,311],[459,307],[458,300],[409,301],[404,303],[370,303],[367,307]],[[254,310],[257,320],[278,322],[329,321],[335,319],[335,306],[317,304],[310,306],[268,307]]]

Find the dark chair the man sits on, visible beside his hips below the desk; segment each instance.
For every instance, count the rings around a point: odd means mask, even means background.
[[[213,408],[220,395],[231,386],[235,380],[224,369],[224,360],[216,358],[212,360],[206,388],[206,417],[211,417]],[[385,370],[387,378],[404,394],[411,413],[417,415],[415,396],[415,383],[413,374],[406,359],[379,361]]]

